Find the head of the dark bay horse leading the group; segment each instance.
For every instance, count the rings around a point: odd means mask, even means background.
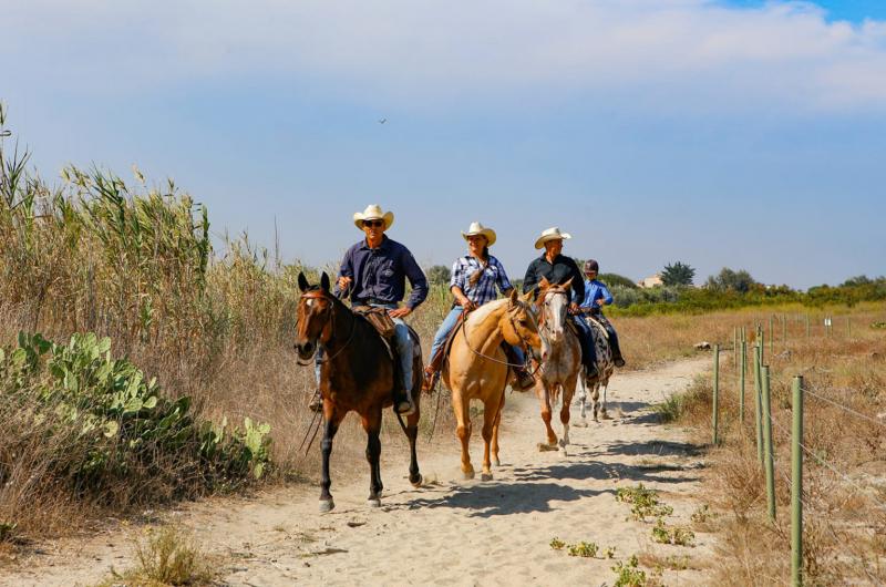
[[[300,364],[308,364],[317,352],[320,342],[326,342],[332,336],[332,315],[336,298],[329,290],[329,276],[320,277],[319,285],[310,285],[305,274],[298,274],[298,288],[301,298],[296,310],[296,352]]]

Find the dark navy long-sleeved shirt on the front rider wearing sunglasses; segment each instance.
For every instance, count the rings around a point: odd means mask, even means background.
[[[406,301],[415,309],[427,297],[427,279],[406,247],[387,236],[381,245],[371,249],[363,239],[344,254],[339,277],[350,277],[350,299],[354,306],[365,303],[398,303],[406,291],[406,279],[412,295]]]

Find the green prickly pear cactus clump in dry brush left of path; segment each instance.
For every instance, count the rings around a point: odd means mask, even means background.
[[[68,344],[20,333],[17,348],[0,348],[0,397],[49,444],[63,439],[65,450],[48,455],[49,474],[80,494],[110,498],[104,490],[140,477],[224,488],[261,476],[268,464],[268,425],[195,421],[189,398],[163,395],[156,379],[112,359],[111,340],[93,333],[75,333]],[[4,465],[0,460],[0,481]]]

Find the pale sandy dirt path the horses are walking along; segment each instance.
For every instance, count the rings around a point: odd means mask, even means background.
[[[690,557],[690,568],[666,570],[668,585],[704,584],[699,562],[710,536],[692,548],[651,539],[651,523],[627,521],[630,507],[616,488],[642,483],[673,506],[670,524],[688,525],[700,505],[693,493],[703,463],[683,431],[666,428],[649,404],[681,391],[707,358],[618,374],[610,385],[612,420],[573,426],[568,456],[540,453],[544,426],[534,394],[508,394],[501,435],[502,466],[492,482],[462,481],[457,441],[441,431],[442,450],[420,452],[426,485],[413,490],[406,457],[389,449],[382,466],[380,509],[364,505],[369,477],[333,485],[337,508],[318,514],[313,486],[276,490],[251,500],[210,500],[171,515],[193,527],[226,559],[235,586],[311,585],[612,585],[610,567],[632,554]],[[573,406],[573,423],[580,421]],[[559,433],[559,428],[556,429]],[[449,442],[447,442],[449,441]],[[472,442],[477,471],[482,441]],[[383,449],[384,450],[384,449]],[[361,464],[362,465],[362,464]],[[333,480],[334,482],[334,480]],[[549,543],[616,547],[615,560],[568,556]],[[78,553],[44,554],[39,567],[0,576],[2,585],[89,585],[111,566],[130,565],[126,533],[99,536]]]

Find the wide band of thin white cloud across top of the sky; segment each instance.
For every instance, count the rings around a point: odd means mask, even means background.
[[[421,104],[516,93],[662,110],[882,111],[886,23],[824,16],[807,2],[702,0],[33,0],[3,8],[11,50],[0,65],[24,81],[123,92],[270,74]]]

